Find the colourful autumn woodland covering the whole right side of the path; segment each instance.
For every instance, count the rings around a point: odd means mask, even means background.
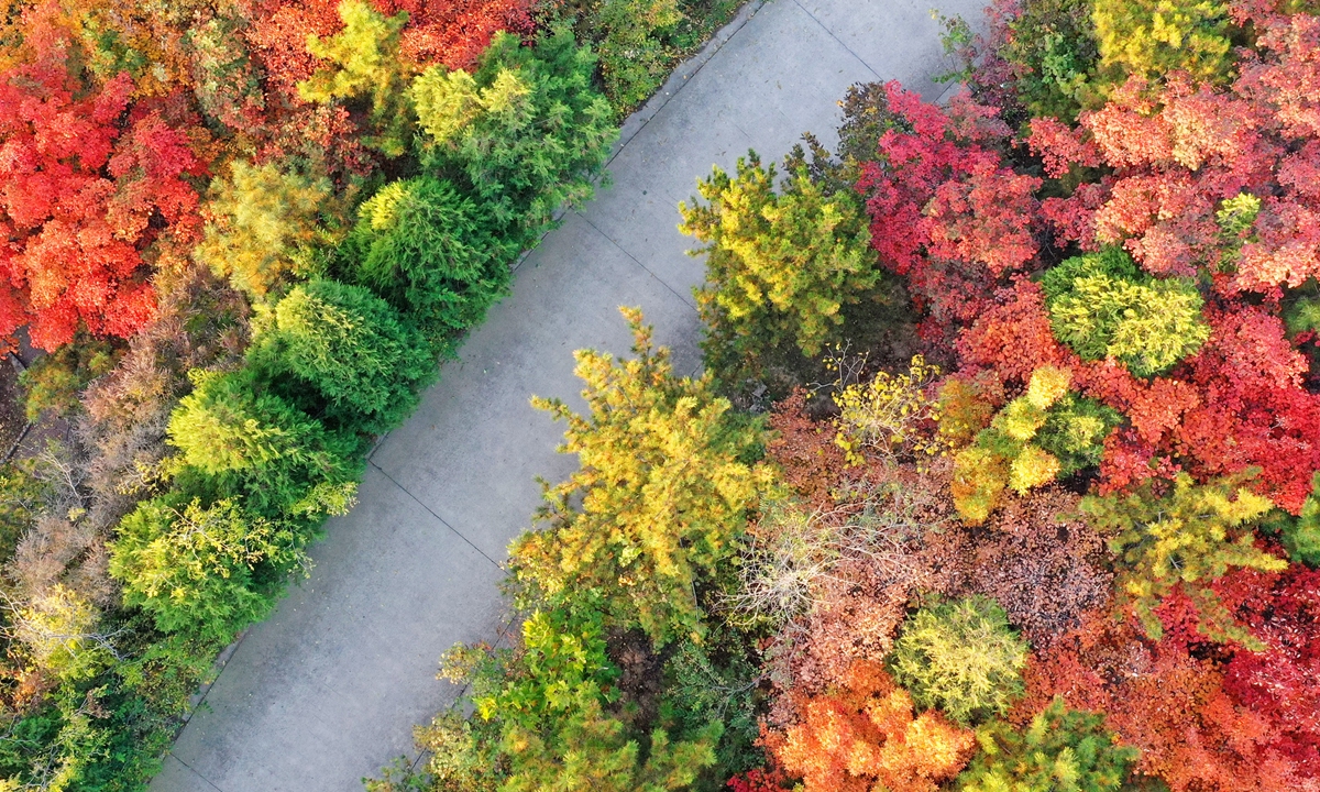
[[[678,206],[374,792],[1320,789],[1320,7],[995,0]],[[830,136],[833,141],[833,136]]]

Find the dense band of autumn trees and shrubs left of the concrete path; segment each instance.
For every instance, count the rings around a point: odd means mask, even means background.
[[[0,0],[0,351],[37,354],[0,789],[145,785],[364,451],[735,9]]]

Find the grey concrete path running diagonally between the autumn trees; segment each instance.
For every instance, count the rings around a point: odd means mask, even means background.
[[[313,548],[312,578],[239,644],[154,792],[358,792],[412,752],[413,723],[455,694],[434,678],[440,655],[495,635],[500,562],[539,503],[533,477],[574,465],[554,453],[562,426],[528,397],[581,404],[572,352],[626,352],[619,305],[640,305],[694,371],[702,264],[685,255],[677,202],[748,148],[777,160],[807,131],[832,145],[854,82],[942,92],[929,81],[948,70],[932,4],[979,17],[979,0],[754,3],[630,119],[614,186],[527,257],[513,294],[378,446],[358,507]]]

